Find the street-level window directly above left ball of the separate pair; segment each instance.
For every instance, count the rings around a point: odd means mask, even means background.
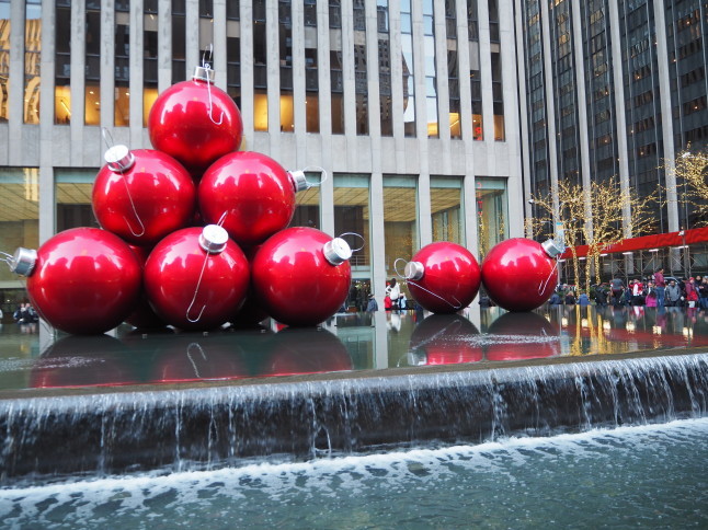
[[[433,241],[465,244],[461,178],[431,178],[431,215]]]

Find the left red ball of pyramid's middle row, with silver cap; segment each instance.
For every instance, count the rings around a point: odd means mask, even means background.
[[[115,146],[93,184],[99,223],[128,243],[152,246],[189,227],[196,208],[196,186],[172,157],[152,149]]]

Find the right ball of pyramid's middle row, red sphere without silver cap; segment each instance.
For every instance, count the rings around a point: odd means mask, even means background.
[[[228,154],[214,163],[197,191],[205,221],[224,228],[241,245],[256,245],[290,222],[295,187],[275,160],[252,151]]]

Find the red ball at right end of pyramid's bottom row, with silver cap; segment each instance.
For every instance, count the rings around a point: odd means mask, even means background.
[[[313,228],[288,228],[255,254],[252,281],[259,302],[278,322],[317,325],[346,300],[352,250]]]

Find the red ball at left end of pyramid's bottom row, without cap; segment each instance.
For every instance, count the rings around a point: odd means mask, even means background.
[[[72,334],[104,333],[133,311],[140,295],[140,262],[117,235],[75,228],[37,250],[27,291],[39,315]]]

